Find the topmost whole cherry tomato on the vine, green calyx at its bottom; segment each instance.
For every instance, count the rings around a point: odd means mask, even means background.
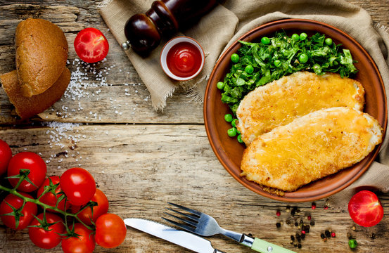
[[[24,180],[18,187],[18,190],[30,193],[42,185],[47,169],[46,163],[39,155],[32,152],[20,152],[14,155],[9,161],[7,175],[18,175],[20,169],[30,169],[30,174],[27,177],[37,187]],[[19,179],[8,179],[8,181],[15,187]]]

